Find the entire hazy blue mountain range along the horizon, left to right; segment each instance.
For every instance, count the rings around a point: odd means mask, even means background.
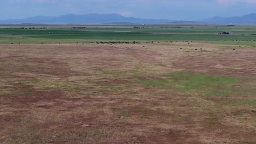
[[[25,19],[0,20],[0,24],[165,24],[165,23],[202,23],[202,24],[254,24],[256,25],[256,14],[248,14],[234,17],[212,17],[198,21],[175,21],[166,19],[138,19],[135,17],[124,17],[118,14],[67,14],[61,16],[34,16]]]

